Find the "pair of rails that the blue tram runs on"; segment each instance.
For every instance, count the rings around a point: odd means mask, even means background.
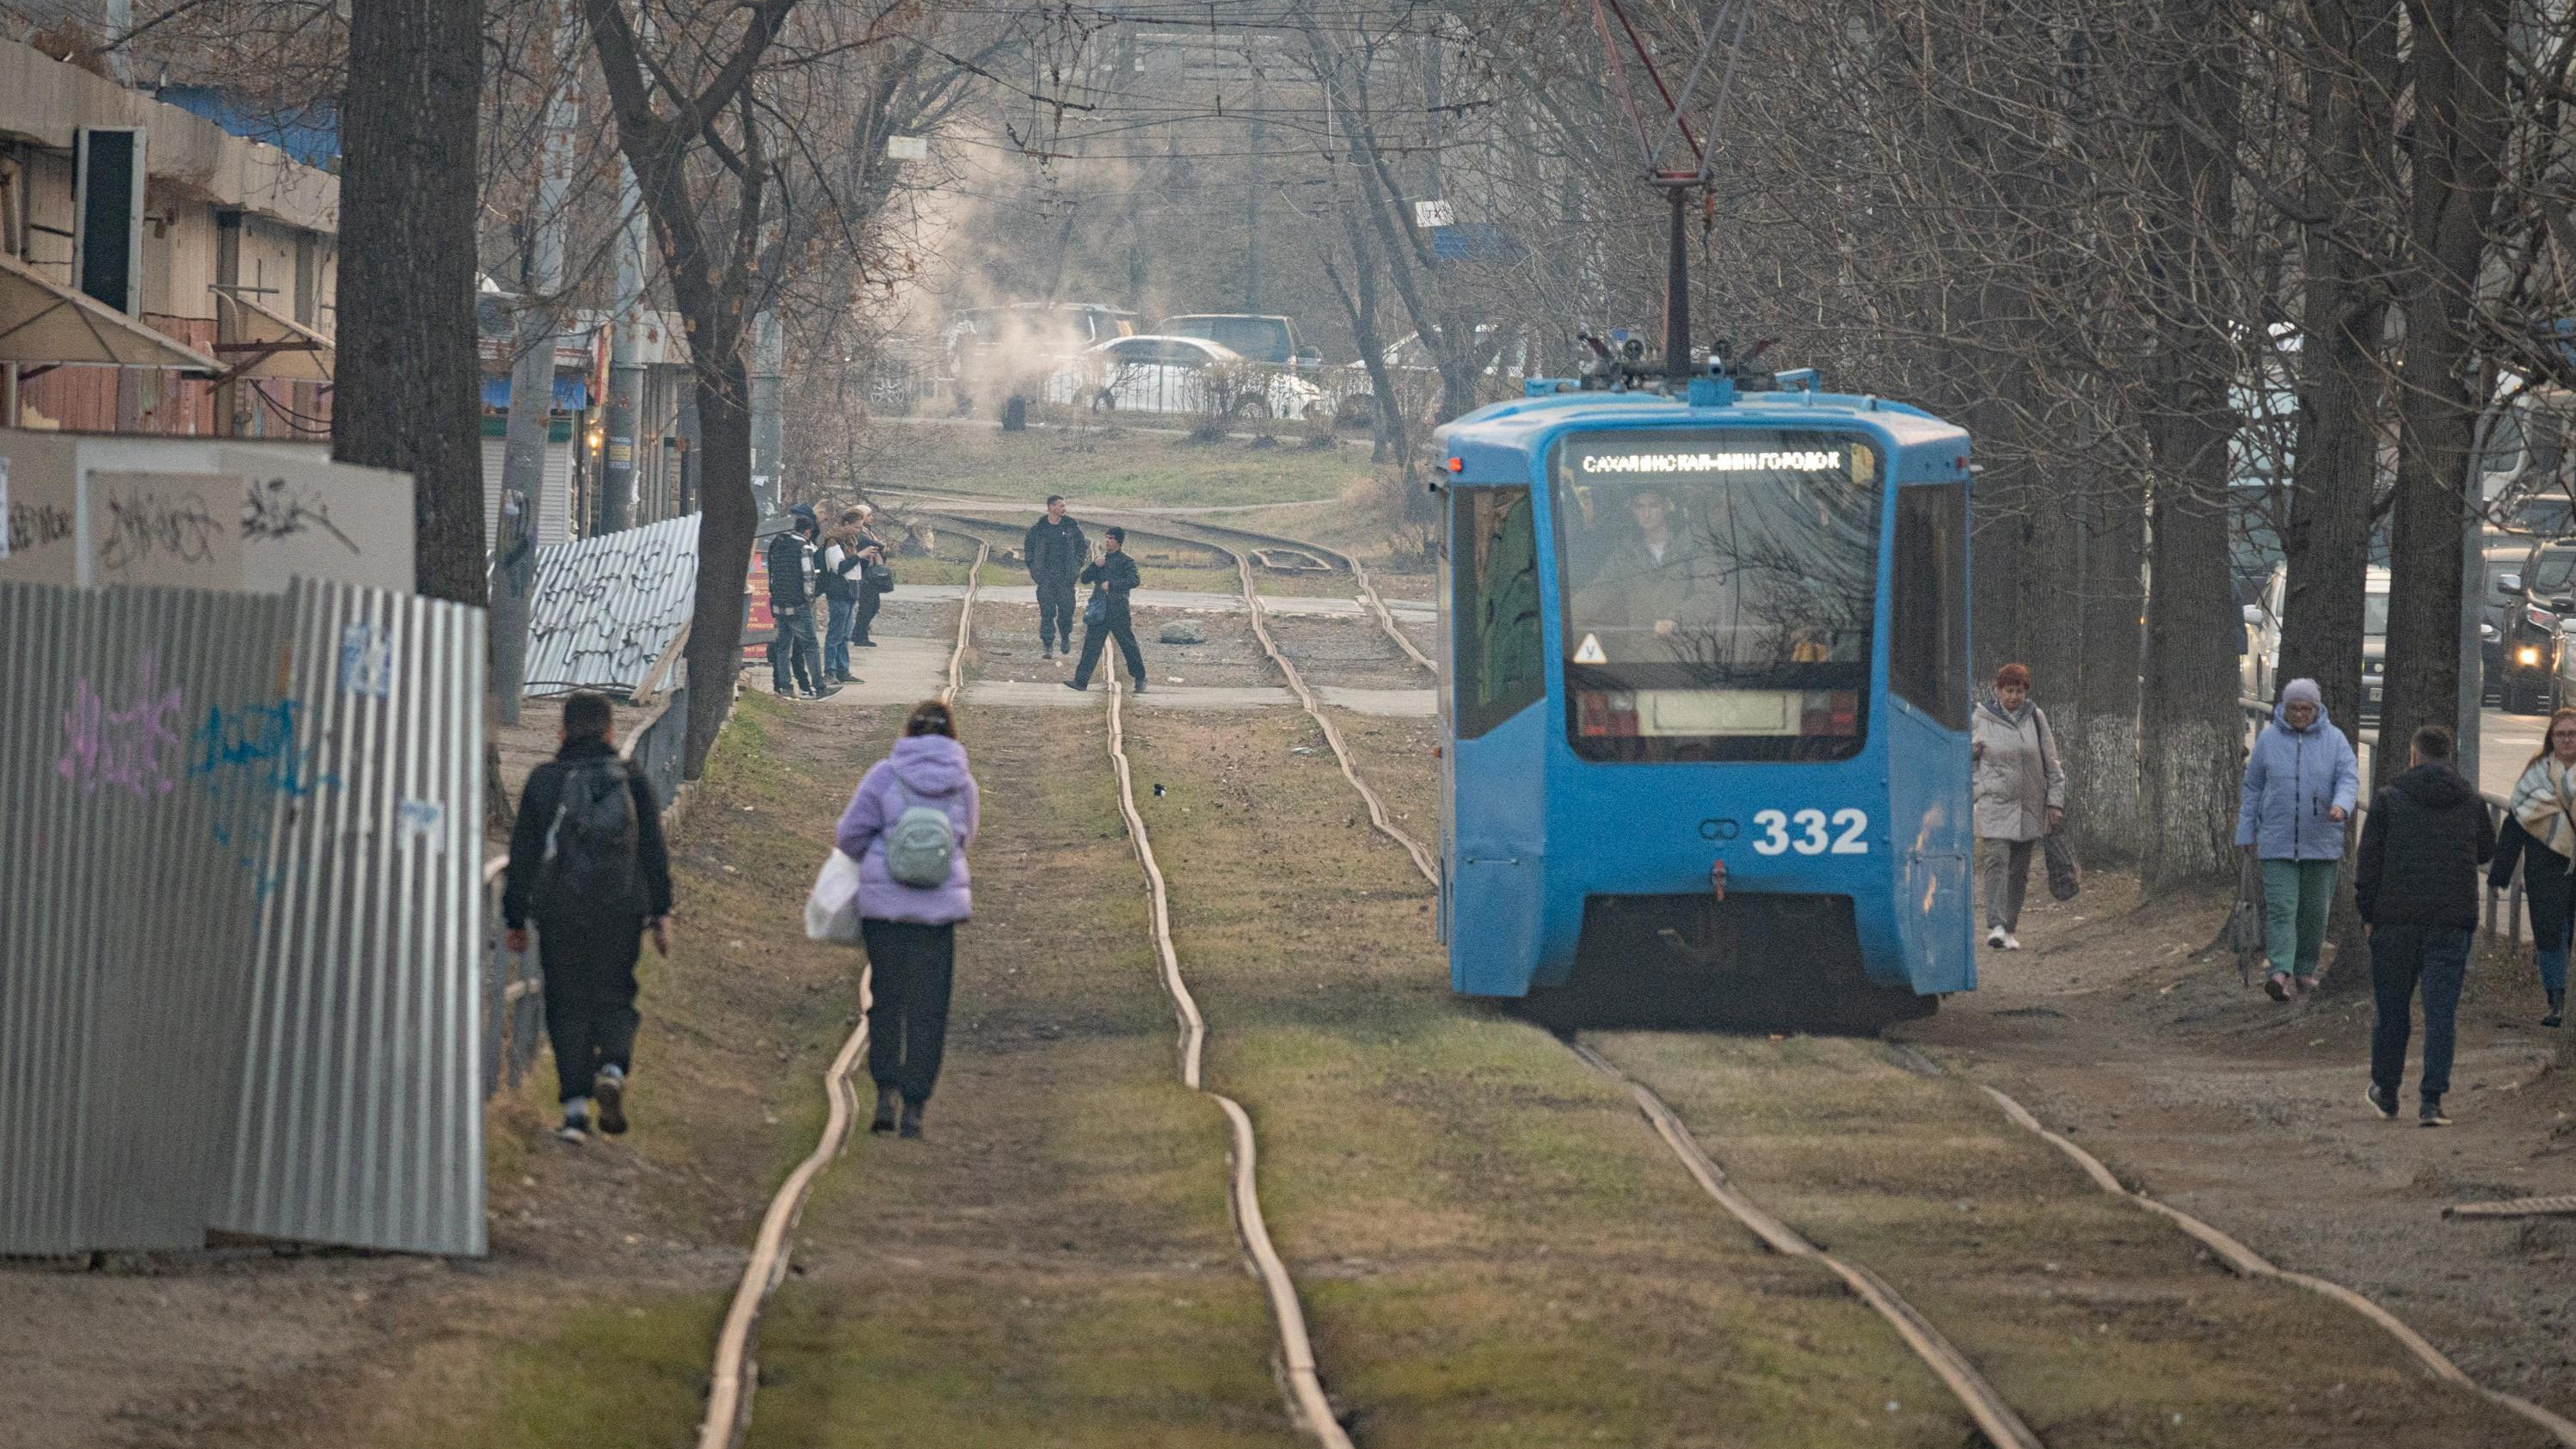
[[[1303,553],[1314,553],[1314,556],[1324,556],[1324,558],[1337,558],[1345,569],[1350,569],[1352,582],[1360,589],[1360,602],[1368,607],[1370,618],[1378,620],[1378,625],[1404,651],[1404,656],[1409,656],[1414,664],[1419,664],[1422,669],[1427,669],[1427,672],[1432,672],[1437,677],[1437,664],[1432,664],[1432,659],[1427,659],[1414,646],[1414,641],[1404,636],[1404,631],[1394,620],[1394,613],[1386,607],[1386,600],[1378,595],[1376,584],[1368,579],[1368,571],[1365,571],[1365,566],[1358,558],[1352,558],[1347,553],[1329,551],[1329,548],[1319,548],[1314,543],[1291,540],[1291,538],[1273,538],[1273,535],[1257,535],[1257,533],[1236,530],[1236,528],[1211,528],[1208,533],[1231,533],[1231,535],[1244,535],[1244,538],[1265,538],[1270,546],[1278,546],[1278,548],[1298,548]],[[1208,546],[1224,548],[1218,543],[1208,543]],[[1430,883],[1432,888],[1437,888],[1440,885],[1440,867],[1437,867],[1432,852],[1419,839],[1414,839],[1412,834],[1406,834],[1401,826],[1396,826],[1388,818],[1386,803],[1378,798],[1378,793],[1360,775],[1358,762],[1352,759],[1350,749],[1342,744],[1342,731],[1334,726],[1334,721],[1327,713],[1327,708],[1321,705],[1321,700],[1316,700],[1314,690],[1309,690],[1303,674],[1296,669],[1296,664],[1285,656],[1285,651],[1273,638],[1270,625],[1267,625],[1267,610],[1262,607],[1262,600],[1260,600],[1260,592],[1257,592],[1257,584],[1255,584],[1255,577],[1252,577],[1252,556],[1249,556],[1249,551],[1226,548],[1226,553],[1234,556],[1236,571],[1242,574],[1244,607],[1252,613],[1252,631],[1255,631],[1255,636],[1260,638],[1262,649],[1270,654],[1270,661],[1288,679],[1288,687],[1291,687],[1291,692],[1296,692],[1298,703],[1306,708],[1306,715],[1314,718],[1314,723],[1324,734],[1324,741],[1332,746],[1334,762],[1342,767],[1342,777],[1350,780],[1352,790],[1358,790],[1360,800],[1368,806],[1370,826],[1378,829],[1378,834],[1388,836],[1394,844],[1399,844],[1404,849],[1404,854],[1412,857],[1414,870],[1425,878],[1425,883]],[[1571,1032],[1561,1035],[1558,1042],[1564,1042],[1566,1050],[1574,1053],[1587,1068],[1592,1068],[1595,1073],[1600,1073],[1600,1076],[1615,1081],[1620,1089],[1625,1089],[1636,1099],[1638,1112],[1654,1127],[1656,1138],[1662,1138],[1664,1145],[1674,1153],[1674,1158],[1680,1158],[1680,1163],[1690,1174],[1690,1179],[1698,1181],[1700,1189],[1718,1207],[1723,1207],[1736,1223],[1741,1223],[1754,1238],[1759,1238],[1762,1246],[1767,1246],[1772,1253],[1780,1253],[1785,1259],[1811,1259],[1811,1261],[1816,1261],[1819,1266],[1824,1266],[1826,1271],[1832,1271],[1837,1279],[1842,1279],[1842,1284],[1855,1297],[1860,1297],[1880,1318],[1886,1318],[1896,1328],[1899,1338],[1904,1338],[1906,1349],[1911,1349],[1914,1356],[1919,1356],[1924,1361],[1924,1367],[1929,1367],[1935,1372],[1935,1377],[1940,1377],[1940,1382],[1960,1403],[1960,1408],[1978,1426],[1978,1431],[1989,1439],[1989,1444],[1994,1444],[1996,1449],[2043,1449],[2043,1439],[2030,1428],[2030,1423],[2022,1421],[2022,1416],[2012,1408],[2012,1403],[2004,1400],[2004,1395],[1996,1392],[1996,1387],[1991,1382],[1986,1382],[1986,1377],[1976,1369],[1976,1364],[1955,1343],[1950,1343],[1950,1338],[1942,1336],[1940,1328],[1935,1328],[1932,1320],[1922,1315],[1922,1310],[1917,1310],[1911,1302],[1906,1302],[1883,1277],[1878,1277],[1875,1271],[1870,1271],[1865,1264],[1855,1264],[1850,1259],[1842,1259],[1837,1253],[1829,1253],[1829,1251],[1819,1248],[1816,1243],[1811,1243],[1808,1238],[1803,1238],[1795,1228],[1790,1228],[1788,1223],[1783,1223],[1780,1217],[1775,1217],[1770,1210],[1765,1210],[1759,1202],[1754,1202],[1734,1181],[1728,1181],[1726,1168],[1718,1166],[1716,1158],[1708,1156],[1705,1145],[1698,1140],[1698,1135],[1692,1132],[1692,1127],[1651,1086],[1646,1086],[1643,1081],[1628,1076],[1625,1071],[1620,1071],[1615,1063],[1610,1063],[1607,1058],[1602,1058],[1592,1048],[1582,1045]],[[1911,1048],[1901,1048],[1901,1045],[1893,1048],[1893,1050],[1901,1058],[1909,1058],[1909,1066],[1914,1066],[1917,1071],[1929,1071],[1935,1076],[1945,1076],[1942,1068],[1937,1063],[1932,1063],[1929,1058],[1924,1058],[1922,1053],[1914,1053]],[[2537,1405],[2537,1403],[2532,1403],[2532,1400],[2527,1400],[2522,1395],[2512,1395],[2512,1392],[2494,1390],[2494,1387],[2486,1387],[2486,1385],[2476,1382],[2473,1377],[2468,1377],[2468,1372],[2463,1372],[2455,1361],[2450,1361],[2450,1356],[2442,1354],[2432,1341],[2427,1341],[2421,1333],[2416,1333],[2414,1328],[2409,1328],[2401,1318],[2396,1318],[2393,1313],[2388,1313],[2385,1307],[2380,1307],[2378,1302],[2372,1302],[2367,1295],[2362,1295],[2362,1292],[2357,1292],[2352,1287],[2344,1287],[2339,1282],[2321,1279],[2321,1277],[2313,1277],[2313,1274],[2303,1274],[2303,1271],[2295,1271],[2295,1269],[2282,1269],[2282,1266],[2267,1261],[2262,1253],[2257,1253],[2254,1248],[2244,1246],[2233,1235],[2213,1228],[2210,1223],[2202,1223],[2200,1217],[2192,1217],[2190,1212],[2182,1212],[2179,1207],[2159,1202],[2156,1197],[2148,1197],[2146,1192],[2130,1189],[2099,1158],[2094,1158],[2092,1153],[2087,1153],[2084,1148],[2079,1148],[2066,1135],[2050,1132],[2038,1120],[2038,1114],[2032,1114],[2027,1107],[2022,1107],[2012,1094],[2007,1094],[2007,1091],[2002,1091],[1996,1086],[1986,1086],[1986,1084],[1978,1084],[1978,1091],[1984,1091],[1989,1099],[1994,1099],[1994,1104],[2002,1107],[2004,1117],[2014,1127],[2022,1127],[2025,1132],[2038,1135],[2040,1140],[2045,1140],[2048,1145],[2053,1145],[2056,1150],[2061,1150],[2069,1161],[2074,1161],[2076,1168],[2081,1168],[2084,1176],[2094,1186],[2099,1186],[2102,1192],[2110,1192],[2115,1197],[2123,1197],[2128,1202],[2136,1202],[2138,1207],[2143,1207],[2148,1212],[2156,1212],[2159,1217],[2166,1217],[2184,1235],[2190,1235],[2192,1241],[2197,1241],[2200,1246],[2205,1246],[2236,1277],[2244,1277],[2244,1279],[2277,1279],[2277,1282],[2295,1284],[2295,1287],[2303,1287],[2308,1292],[2316,1292],[2321,1297],[2329,1297],[2334,1302],[2342,1302],[2344,1307],[2349,1307],[2352,1313],[2360,1313],[2375,1328],[2380,1328],[2383,1333],[2388,1333],[2434,1380],[2455,1385],[2455,1387],[2463,1387],[2468,1392],[2476,1392],[2476,1395],[2486,1398],[2488,1403],[2494,1403],[2494,1405],[2499,1405],[2499,1408],[2504,1408],[2504,1410],[2509,1410],[2509,1413],[2514,1413],[2514,1416],[2519,1416],[2519,1418],[2540,1426],[2553,1439],[2558,1439],[2558,1444],[2566,1444],[2566,1446],[2576,1449],[2576,1421],[2568,1421],[2566,1416],[2561,1416],[2561,1413],[2555,1413],[2550,1408],[2543,1408],[2543,1405]]]

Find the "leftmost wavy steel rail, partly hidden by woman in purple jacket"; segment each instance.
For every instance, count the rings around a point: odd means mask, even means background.
[[[989,543],[976,543],[974,569],[966,571],[966,597],[958,605],[958,636],[948,649],[948,682],[940,685],[940,703],[953,705],[966,682],[966,643],[974,636],[976,577],[992,556]],[[788,1277],[796,1223],[814,1194],[814,1181],[850,1145],[850,1125],[858,1122],[858,1060],[868,1053],[868,968],[858,973],[858,1027],[832,1053],[832,1066],[822,1073],[824,1125],[796,1171],[778,1184],[770,1207],[760,1215],[760,1233],[752,1235],[752,1256],[742,1266],[734,1297],[716,1331],[716,1359],[706,1382],[706,1418],[698,1421],[698,1449],[734,1449],[752,1426],[752,1392],[760,1387],[755,1359],[760,1313],[770,1295]]]

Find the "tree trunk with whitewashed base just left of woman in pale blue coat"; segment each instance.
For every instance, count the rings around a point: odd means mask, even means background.
[[[2221,0],[2169,5],[2174,54],[2146,139],[2156,358],[2146,422],[2154,476],[2138,875],[2148,891],[2218,880],[2233,865],[2236,654],[2244,620],[2228,587],[2228,386],[2236,358],[2223,252],[2233,237],[2236,57]],[[2184,124],[2190,118],[2190,124]]]

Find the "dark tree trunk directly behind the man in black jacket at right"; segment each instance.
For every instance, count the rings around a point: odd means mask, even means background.
[[[2406,378],[2398,391],[2398,499],[2391,528],[2388,695],[2380,739],[2460,723],[2460,543],[2483,368],[2478,270],[2501,178],[2509,0],[2409,0],[2414,31],[2414,193],[2409,198]],[[2380,749],[2380,782],[2406,770]]]

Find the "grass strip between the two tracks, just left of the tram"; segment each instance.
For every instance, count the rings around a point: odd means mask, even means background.
[[[1303,715],[1139,713],[1208,1076],[1370,1449],[1960,1444],[1932,1374],[1767,1256],[1618,1089],[1448,993],[1430,893]],[[1151,795],[1162,785],[1162,798]]]

